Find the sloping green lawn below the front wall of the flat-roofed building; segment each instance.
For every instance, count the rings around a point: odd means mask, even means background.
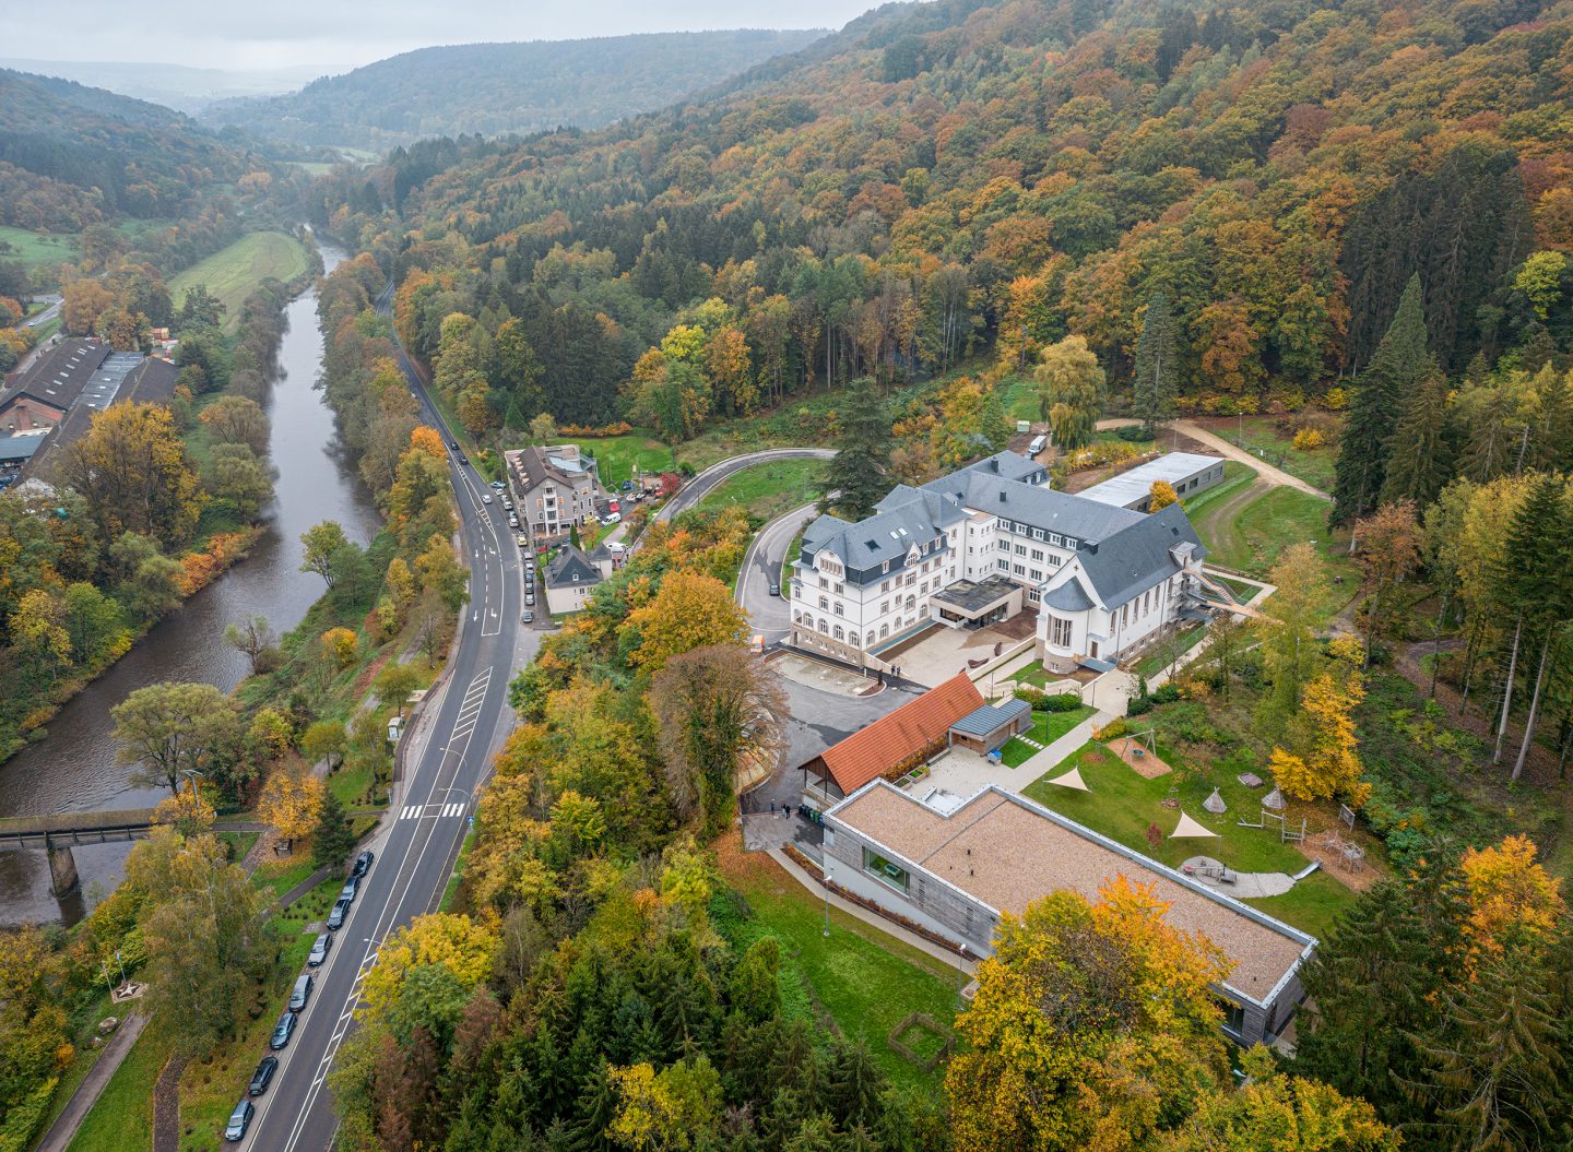
[[[780,941],[786,1014],[818,1020],[823,1012],[842,1036],[862,1039],[897,1084],[938,1092],[944,1066],[925,1072],[895,1053],[886,1037],[911,1012],[926,1012],[950,1028],[960,971],[835,910],[826,938],[823,901],[769,857],[739,852],[736,835],[719,847],[722,875],[742,894],[749,915],[739,916],[735,905],[717,899],[717,926],[736,948],[764,935]]]

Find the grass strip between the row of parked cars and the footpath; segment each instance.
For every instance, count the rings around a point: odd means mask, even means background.
[[[239,1034],[219,1045],[209,1059],[186,1066],[181,1075],[181,1152],[219,1152],[223,1147],[225,1121],[234,1102],[245,1094],[256,1061],[267,1055],[267,1037],[288,1004],[289,987],[305,971],[307,952],[316,940],[316,932],[307,932],[307,926],[327,915],[340,886],[338,877],[324,880],[274,919],[283,945],[278,963],[267,979],[252,989]]]

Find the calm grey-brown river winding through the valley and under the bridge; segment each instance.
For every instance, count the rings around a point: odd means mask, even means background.
[[[322,245],[332,270],[344,253]],[[223,629],[263,615],[280,635],[305,616],[322,594],[322,580],[300,570],[300,533],[321,520],[338,520],[365,544],[379,517],[371,493],[343,460],[333,413],[313,388],[322,360],[316,327],[316,292],[285,310],[289,327],[278,349],[280,377],[269,399],[272,460],[278,468],[274,506],[252,553],[159,621],[104,676],[79,693],[49,723],[49,736],[0,764],[0,816],[148,808],[164,791],[127,784],[127,767],[115,762],[109,710],[137,688],[159,681],[206,681],[230,692],[249,670],[245,655],[223,643]],[[42,852],[0,852],[0,924],[79,919],[120,883],[129,844],[77,847],[82,893],[57,904],[49,894]]]

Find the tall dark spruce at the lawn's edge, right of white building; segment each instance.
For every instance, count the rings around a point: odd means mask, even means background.
[[[1398,300],[1398,311],[1376,355],[1354,387],[1332,486],[1332,522],[1370,515],[1387,479],[1387,438],[1408,410],[1420,380],[1436,374],[1425,344],[1425,306],[1419,273]]]

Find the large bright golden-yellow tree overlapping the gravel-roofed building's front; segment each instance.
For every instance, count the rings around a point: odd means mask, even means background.
[[[1224,954],[1170,927],[1150,886],[1117,877],[1100,897],[1000,919],[945,1073],[956,1152],[1145,1147],[1225,1083]]]

